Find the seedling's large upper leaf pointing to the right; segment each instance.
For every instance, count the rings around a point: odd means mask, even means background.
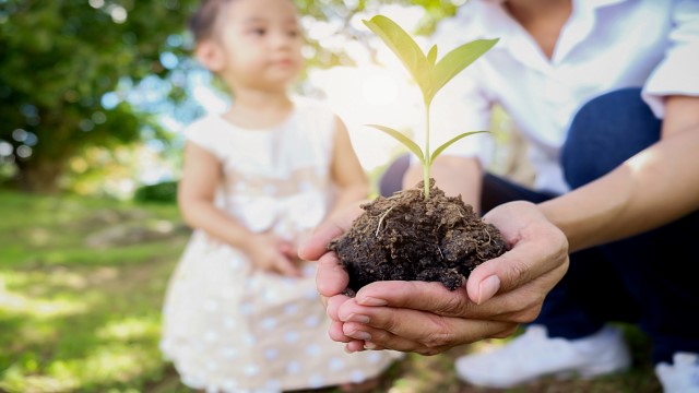
[[[476,39],[447,53],[435,67],[433,95],[437,94],[459,72],[493,48],[498,39]]]

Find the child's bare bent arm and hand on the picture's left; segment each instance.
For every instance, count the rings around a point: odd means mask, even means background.
[[[299,275],[285,257],[288,245],[272,234],[254,234],[215,206],[222,178],[218,159],[194,143],[185,146],[185,168],[177,202],[185,223],[242,250],[257,266],[284,275]]]

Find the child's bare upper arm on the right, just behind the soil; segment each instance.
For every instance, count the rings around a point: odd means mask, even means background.
[[[369,181],[352,147],[347,128],[340,118],[336,118],[335,124],[331,177],[339,188],[339,194],[328,217],[351,203],[366,199],[369,192]]]

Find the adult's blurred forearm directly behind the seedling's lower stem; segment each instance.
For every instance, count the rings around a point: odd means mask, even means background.
[[[441,156],[431,167],[430,177],[436,186],[448,196],[461,195],[461,199],[478,212],[481,207],[482,170],[475,158]],[[422,165],[411,165],[403,189],[414,188],[423,180]]]

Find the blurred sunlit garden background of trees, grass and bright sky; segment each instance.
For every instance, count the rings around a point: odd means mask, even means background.
[[[386,14],[424,43],[464,1],[297,1],[308,64],[296,91],[334,107],[374,184],[404,150],[363,124],[412,135],[422,109],[362,20]],[[188,392],[157,349],[189,236],[175,204],[181,131],[228,105],[190,57],[198,3],[0,0],[0,392]],[[490,169],[526,182],[524,146],[501,146],[511,130],[495,108]],[[521,391],[659,391],[644,337],[627,333],[635,371]],[[459,383],[452,360],[488,345],[408,356],[377,391],[483,391]]]

